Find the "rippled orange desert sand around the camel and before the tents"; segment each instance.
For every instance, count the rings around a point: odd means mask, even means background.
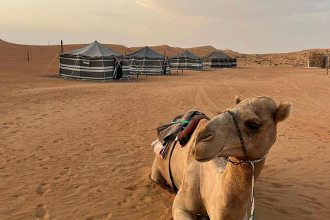
[[[155,128],[189,109],[214,116],[236,95],[293,104],[256,183],[256,218],[329,219],[324,69],[250,66],[104,84],[36,77],[49,63],[0,63],[0,219],[171,219],[173,191],[150,179]]]

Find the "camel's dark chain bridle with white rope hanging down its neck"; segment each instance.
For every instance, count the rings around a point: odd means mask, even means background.
[[[257,162],[261,162],[262,160],[266,159],[268,153],[266,153],[265,156],[259,158],[259,159],[254,159],[254,160],[250,160],[248,157],[248,153],[246,153],[246,148],[244,146],[244,140],[242,137],[242,133],[241,133],[241,129],[239,129],[239,123],[237,123],[236,118],[234,113],[232,113],[232,111],[223,111],[223,113],[228,112],[230,113],[230,115],[232,115],[232,120],[234,120],[234,124],[236,126],[236,131],[237,134],[239,135],[239,140],[241,141],[242,144],[242,150],[244,152],[244,159],[241,160],[241,162],[234,162],[232,161],[229,157],[225,157],[225,159],[232,163],[233,165],[241,165],[241,164],[245,164],[245,165],[251,165],[252,166],[252,193],[251,193],[251,218],[250,220],[254,220],[254,164],[256,164]]]

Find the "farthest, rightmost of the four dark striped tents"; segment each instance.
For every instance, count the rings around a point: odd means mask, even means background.
[[[204,56],[204,68],[237,68],[236,58],[232,58],[221,51],[214,51]]]

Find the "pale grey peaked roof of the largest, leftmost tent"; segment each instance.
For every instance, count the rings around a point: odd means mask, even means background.
[[[72,50],[70,52],[62,53],[60,55],[66,56],[85,56],[85,57],[109,57],[109,56],[122,56],[118,52],[115,52],[108,47],[94,41],[85,47],[80,47],[77,50]]]

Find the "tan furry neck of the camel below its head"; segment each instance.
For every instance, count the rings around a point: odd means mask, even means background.
[[[233,162],[240,161],[236,157],[230,157],[230,159]],[[264,164],[265,160],[254,164],[254,181],[259,177]],[[243,218],[251,198],[252,167],[244,164],[234,165],[228,162],[221,178],[223,186],[221,187],[223,189],[223,200],[221,202],[225,206],[220,207],[226,207],[221,210],[223,219],[235,219],[232,213],[236,213],[238,219]]]

